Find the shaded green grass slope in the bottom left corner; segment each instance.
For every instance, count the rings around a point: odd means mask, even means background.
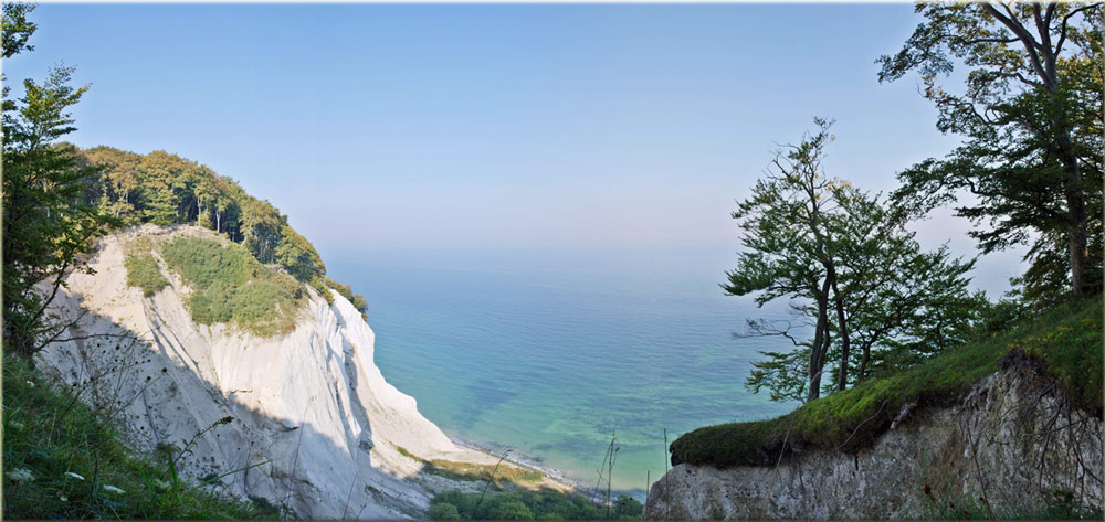
[[[3,361],[4,519],[275,519],[271,505],[178,484],[106,415],[19,356]]]

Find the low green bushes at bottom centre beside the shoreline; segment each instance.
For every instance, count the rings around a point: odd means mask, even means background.
[[[608,508],[578,493],[555,490],[522,491],[490,494],[445,491],[430,504],[433,520],[452,515],[460,520],[608,520]],[[438,508],[441,505],[441,508]],[[644,507],[632,497],[621,496],[609,509],[609,520],[641,520]]]

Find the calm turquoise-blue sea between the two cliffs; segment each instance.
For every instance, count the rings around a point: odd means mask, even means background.
[[[723,295],[727,248],[324,254],[368,298],[376,362],[427,418],[585,483],[613,432],[613,488],[643,490],[664,472],[664,428],[793,407],[743,386],[757,350],[788,343],[732,333],[787,309]]]

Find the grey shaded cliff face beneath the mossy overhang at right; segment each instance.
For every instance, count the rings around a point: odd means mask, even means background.
[[[809,450],[774,467],[681,464],[653,483],[650,520],[996,516],[1070,494],[1102,507],[1102,419],[1023,355],[958,405],[912,414],[874,447]]]

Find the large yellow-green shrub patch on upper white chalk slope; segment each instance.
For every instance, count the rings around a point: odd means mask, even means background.
[[[188,307],[197,323],[229,323],[266,337],[295,329],[301,284],[265,268],[241,245],[179,237],[161,252],[192,289]]]

